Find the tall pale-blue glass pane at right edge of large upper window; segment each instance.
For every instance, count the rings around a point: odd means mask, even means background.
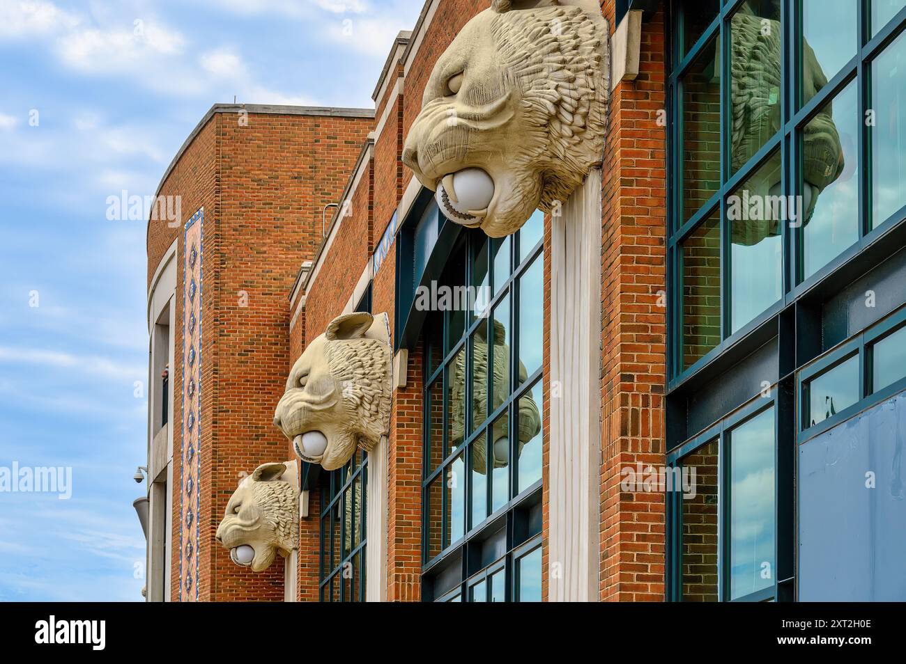
[[[872,62],[872,226],[906,205],[906,33]]]

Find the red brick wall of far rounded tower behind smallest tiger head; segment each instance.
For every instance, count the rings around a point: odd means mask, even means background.
[[[250,114],[247,125],[238,119],[217,113],[180,157],[161,194],[182,195],[186,219],[205,206],[199,599],[279,601],[282,565],[247,572],[230,562],[214,534],[241,473],[292,458],[272,423],[291,363],[287,293],[300,263],[313,257],[323,206],[340,197],[373,119]],[[149,227],[149,275],[173,237],[181,237],[181,230],[159,224]],[[175,343],[182,347],[179,324]],[[174,394],[181,394],[181,366],[173,374]],[[181,400],[175,401],[174,422],[181,422]],[[181,556],[180,442],[177,432],[174,591]]]

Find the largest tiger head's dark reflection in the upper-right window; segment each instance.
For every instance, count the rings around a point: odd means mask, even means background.
[[[730,24],[730,156],[732,172],[745,166],[781,127],[781,24],[755,15],[749,5]],[[803,42],[803,88],[814,95],[827,77],[812,48]],[[803,223],[808,223],[824,188],[843,173],[843,148],[828,104],[809,121],[803,134]],[[747,185],[748,196],[780,194],[782,173],[757,169]],[[792,221],[792,220],[791,220]],[[752,245],[780,234],[779,219],[744,220],[733,224],[733,242]]]

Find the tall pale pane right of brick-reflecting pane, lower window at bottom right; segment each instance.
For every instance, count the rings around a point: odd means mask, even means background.
[[[774,410],[729,434],[729,594],[735,600],[774,586]]]

